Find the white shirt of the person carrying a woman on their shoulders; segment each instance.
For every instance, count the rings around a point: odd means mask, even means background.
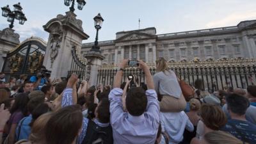
[[[194,131],[194,125],[190,122],[184,111],[178,113],[160,112],[162,131],[170,136],[169,144],[180,143],[183,140],[184,130]]]

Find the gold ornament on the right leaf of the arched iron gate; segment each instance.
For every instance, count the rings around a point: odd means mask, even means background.
[[[43,60],[44,56],[38,51],[29,56],[29,72],[34,74],[41,67]]]

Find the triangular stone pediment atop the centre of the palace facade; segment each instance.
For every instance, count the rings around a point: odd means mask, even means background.
[[[127,35],[121,36],[120,38],[117,38],[116,42],[130,41],[130,40],[145,40],[145,39],[151,39],[151,38],[157,38],[157,36],[151,35],[148,33],[132,32],[132,33],[127,33]]]

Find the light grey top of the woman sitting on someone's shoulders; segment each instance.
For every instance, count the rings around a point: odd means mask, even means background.
[[[157,94],[160,95],[170,95],[179,99],[182,93],[177,77],[172,70],[157,72],[154,75],[154,86]]]

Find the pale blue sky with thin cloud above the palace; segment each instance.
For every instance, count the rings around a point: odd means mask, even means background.
[[[42,26],[58,14],[69,9],[63,0],[0,0],[0,6],[20,2],[28,21],[22,26],[15,21],[15,31],[20,41],[29,36],[47,40]],[[255,0],[86,0],[77,18],[83,20],[83,29],[90,36],[83,42],[93,42],[95,29],[93,17],[101,13],[104,18],[99,40],[113,40],[118,31],[155,27],[157,34],[196,29],[236,26],[242,20],[256,19]],[[0,29],[8,27],[5,17],[0,17]]]

